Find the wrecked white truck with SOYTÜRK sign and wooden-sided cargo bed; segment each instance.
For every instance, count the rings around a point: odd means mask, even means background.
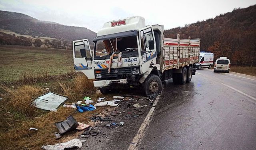
[[[164,38],[164,26],[146,26],[140,16],[106,22],[93,42],[91,50],[87,39],[73,41],[74,69],[96,79],[102,94],[132,85],[156,96],[162,81],[185,84],[196,74],[200,39]]]

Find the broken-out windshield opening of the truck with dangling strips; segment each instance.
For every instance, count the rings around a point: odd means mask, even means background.
[[[116,51],[115,54],[122,52],[122,56],[138,55],[136,36],[98,40],[95,45],[94,56],[96,56],[96,58],[97,56],[110,56],[114,51]]]

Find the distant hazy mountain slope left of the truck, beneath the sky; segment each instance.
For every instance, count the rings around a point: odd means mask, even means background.
[[[0,29],[22,35],[44,36],[73,41],[88,38],[92,44],[96,33],[83,27],[64,26],[56,22],[41,21],[26,14],[0,10]]]

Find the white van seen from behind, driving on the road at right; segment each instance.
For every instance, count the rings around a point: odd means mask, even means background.
[[[230,70],[230,60],[227,57],[220,57],[214,64],[213,72],[227,72]]]

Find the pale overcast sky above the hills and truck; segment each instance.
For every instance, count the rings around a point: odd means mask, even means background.
[[[104,22],[129,16],[170,29],[254,4],[256,0],[0,0],[0,10],[97,32]]]

